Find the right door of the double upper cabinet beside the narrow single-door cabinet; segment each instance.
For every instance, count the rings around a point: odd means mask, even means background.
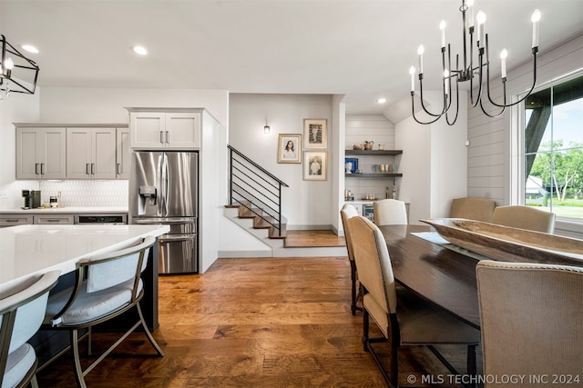
[[[91,178],[116,179],[116,129],[92,129],[91,145]]]

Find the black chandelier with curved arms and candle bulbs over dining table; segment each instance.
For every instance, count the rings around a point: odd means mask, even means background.
[[[498,117],[504,113],[507,107],[513,106],[516,104],[521,103],[524,101],[528,95],[530,95],[537,84],[537,52],[538,52],[538,21],[540,20],[540,12],[535,10],[532,15],[532,56],[533,56],[533,82],[530,90],[528,91],[527,95],[522,97],[519,101],[514,103],[506,103],[506,49],[502,50],[500,54],[500,61],[501,61],[501,81],[503,87],[503,101],[502,102],[495,102],[492,100],[490,96],[490,60],[489,60],[489,53],[488,53],[488,35],[485,32],[485,22],[486,22],[486,15],[479,11],[476,15],[476,22],[477,22],[477,32],[476,32],[476,47],[477,47],[477,66],[474,66],[474,0],[462,0],[462,5],[459,7],[460,12],[462,13],[462,22],[464,25],[464,56],[463,61],[464,64],[462,67],[459,65],[459,54],[455,55],[455,68],[452,68],[452,61],[451,61],[451,47],[447,44],[447,66],[445,66],[445,21],[442,21],[439,25],[441,29],[441,55],[442,55],[442,64],[443,64],[443,108],[440,112],[430,112],[424,105],[423,100],[423,54],[424,54],[424,46],[420,45],[419,49],[417,50],[417,55],[419,56],[419,89],[420,89],[420,99],[421,99],[421,106],[425,114],[431,116],[428,121],[423,122],[417,119],[415,116],[415,106],[414,106],[414,74],[415,68],[411,66],[409,70],[409,74],[411,75],[411,104],[413,107],[413,118],[419,124],[433,124],[437,120],[439,120],[442,116],[445,115],[445,121],[449,125],[455,124],[457,120],[457,115],[459,113],[459,83],[460,82],[467,82],[470,83],[470,102],[471,104],[476,107],[480,105],[482,112],[486,114],[488,117]],[[467,13],[467,18],[466,18]],[[467,22],[467,25],[466,25]],[[469,33],[469,36],[468,36]],[[467,42],[469,40],[469,45]],[[467,48],[469,47],[469,55],[467,53]],[[469,63],[468,63],[469,61]],[[484,76],[484,68],[486,67],[486,77]],[[475,80],[474,77],[477,76],[477,95],[474,95],[474,84]],[[484,78],[486,78],[486,95],[490,104],[500,108],[499,111],[495,114],[490,114],[486,112],[484,108],[484,98],[482,95],[483,92],[483,85],[484,85]],[[455,108],[455,117],[453,121],[450,121],[450,117],[447,114],[449,109],[452,105],[452,95],[453,95],[453,88],[452,88],[452,80],[455,81],[455,101],[456,101],[456,108]]]

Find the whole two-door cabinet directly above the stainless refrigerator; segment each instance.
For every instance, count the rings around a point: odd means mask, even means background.
[[[138,150],[200,148],[202,109],[127,108],[130,146]]]

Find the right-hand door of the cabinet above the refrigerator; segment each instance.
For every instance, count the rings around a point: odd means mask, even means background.
[[[199,113],[166,113],[167,148],[191,149],[200,147]]]

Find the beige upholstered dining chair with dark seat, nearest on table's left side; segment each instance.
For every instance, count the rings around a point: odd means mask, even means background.
[[[389,385],[398,386],[399,349],[427,345],[452,372],[457,373],[437,344],[467,346],[467,373],[476,375],[476,346],[480,332],[432,303],[426,302],[405,287],[396,287],[391,259],[378,226],[362,216],[348,220],[353,236],[354,262],[363,287],[363,346],[370,351]],[[369,317],[383,333],[369,337]],[[390,344],[389,372],[384,368],[372,343]]]

